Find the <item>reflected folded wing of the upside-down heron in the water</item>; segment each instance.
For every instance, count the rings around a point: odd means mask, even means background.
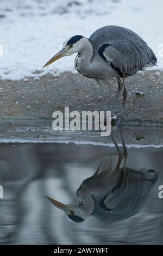
[[[158,174],[153,172],[149,180],[143,178],[139,173],[129,173],[128,178],[123,179],[121,186],[112,190],[104,200],[108,209],[113,209],[115,214],[139,211],[145,203],[149,192],[158,179]],[[147,176],[145,176],[146,178]]]

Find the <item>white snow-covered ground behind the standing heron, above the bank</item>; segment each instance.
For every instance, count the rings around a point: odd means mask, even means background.
[[[74,56],[42,66],[71,35],[89,37],[102,26],[132,29],[153,49],[163,68],[162,0],[0,0],[0,78],[20,80],[74,72]],[[162,44],[162,45],[161,45]],[[162,54],[159,54],[159,51]],[[162,56],[161,56],[162,55]]]

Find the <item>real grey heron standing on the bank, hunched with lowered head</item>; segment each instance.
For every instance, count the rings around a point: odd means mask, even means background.
[[[109,85],[118,84],[115,105],[123,89],[119,118],[121,124],[124,105],[128,94],[126,77],[134,75],[145,67],[156,65],[157,59],[152,49],[135,32],[120,26],[104,26],[93,32],[90,38],[74,35],[65,40],[62,50],[55,54],[44,66],[48,66],[64,56],[78,53],[74,67],[83,76]]]

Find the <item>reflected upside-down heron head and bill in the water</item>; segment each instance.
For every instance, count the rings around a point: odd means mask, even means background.
[[[62,204],[57,200],[46,197],[55,207],[65,212],[66,218],[73,222],[83,222],[87,217],[85,212],[80,209],[80,205]]]

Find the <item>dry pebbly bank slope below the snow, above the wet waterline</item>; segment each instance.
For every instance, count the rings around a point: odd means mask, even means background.
[[[163,120],[163,72],[148,71],[127,78],[128,98],[123,123],[161,125]],[[136,91],[143,96],[136,95]],[[109,110],[117,88],[78,74],[65,72],[59,77],[44,76],[35,81],[0,81],[0,119],[47,120],[56,110]],[[121,99],[114,114],[120,112]]]

